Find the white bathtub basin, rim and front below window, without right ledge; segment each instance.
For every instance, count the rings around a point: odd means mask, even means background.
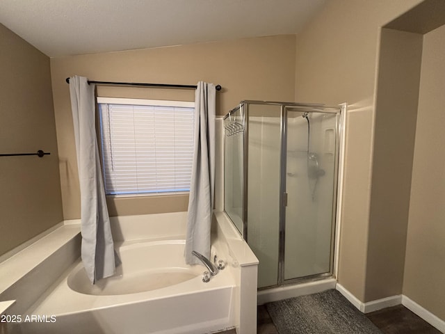
[[[230,268],[203,283],[205,267],[184,264],[184,240],[123,244],[118,253],[120,273],[97,286],[90,285],[80,262],[74,264],[29,312],[54,315],[56,321],[23,323],[24,333],[209,333],[234,328]]]

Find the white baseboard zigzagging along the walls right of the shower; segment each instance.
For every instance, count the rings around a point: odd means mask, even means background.
[[[430,311],[426,310],[421,305],[412,301],[403,294],[363,303],[362,301],[357,299],[357,297],[351,294],[345,287],[343,287],[343,285],[337,283],[335,289],[337,289],[346,299],[348,299],[348,301],[350,301],[350,303],[352,303],[360,312],[369,313],[377,310],[382,310],[383,308],[390,308],[391,306],[402,304],[405,306],[405,308],[411,310],[423,320],[428,322],[428,324],[434,326],[442,333],[445,333],[444,320],[439,319],[439,317],[436,317]]]

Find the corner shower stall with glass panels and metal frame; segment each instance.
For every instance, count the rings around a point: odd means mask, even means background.
[[[259,289],[332,276],[341,111],[243,101],[224,118],[224,209]]]

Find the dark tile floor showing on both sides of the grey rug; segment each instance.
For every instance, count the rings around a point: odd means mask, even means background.
[[[384,334],[442,334],[403,305],[368,313],[369,320]],[[235,334],[235,330],[221,334]],[[279,334],[264,305],[258,306],[257,334]]]

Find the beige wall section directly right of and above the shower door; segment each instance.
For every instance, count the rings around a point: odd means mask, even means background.
[[[361,301],[371,298],[366,261],[380,27],[419,2],[328,1],[296,37],[296,100],[348,102],[338,279]]]

